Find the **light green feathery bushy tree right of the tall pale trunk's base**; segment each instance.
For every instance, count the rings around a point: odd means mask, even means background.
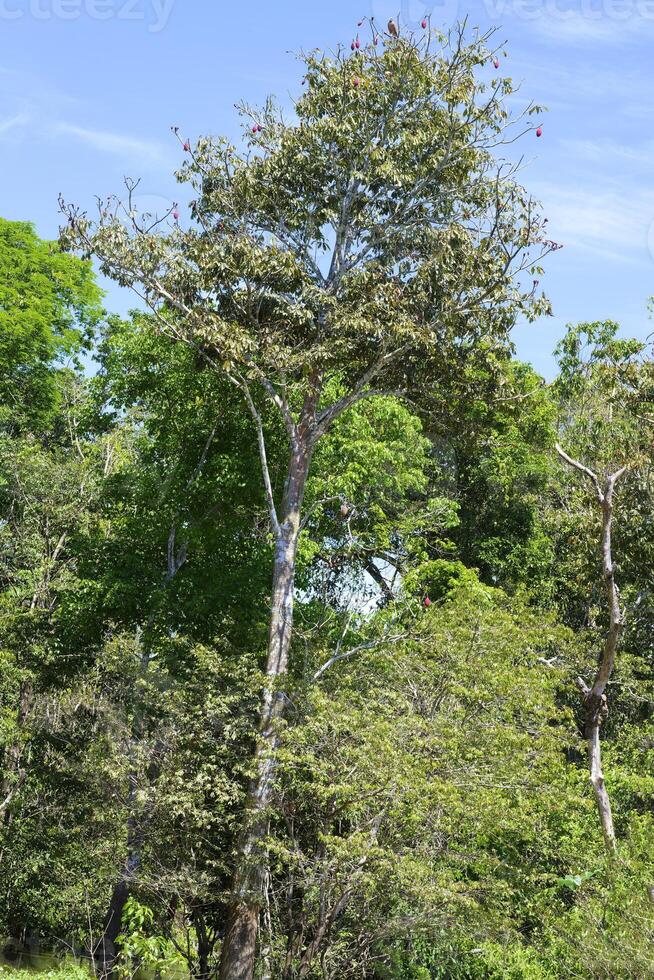
[[[338,976],[363,975],[353,964],[373,951],[386,962],[401,937],[438,947],[443,929],[519,945],[523,917],[545,920],[555,869],[576,860],[574,823],[597,840],[566,776],[578,741],[557,704],[564,678],[544,664],[572,637],[486,591],[482,605],[462,585],[408,609],[404,638],[331,667],[287,732],[273,893],[295,912],[280,928],[311,935],[351,892],[329,953]]]

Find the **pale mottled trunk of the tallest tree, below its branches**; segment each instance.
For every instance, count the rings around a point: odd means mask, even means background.
[[[276,533],[266,687],[259,719],[254,775],[248,788],[243,830],[236,858],[233,902],[221,953],[221,980],[252,980],[254,976],[259,918],[264,903],[267,874],[264,841],[268,832],[268,806],[275,778],[279,722],[285,704],[279,683],[288,670],[300,513],[311,452],[310,434],[306,428],[301,429],[292,447]]]

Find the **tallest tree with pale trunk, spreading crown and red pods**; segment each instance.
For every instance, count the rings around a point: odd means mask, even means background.
[[[489,36],[386,37],[352,53],[303,55],[305,92],[287,121],[269,101],[241,106],[243,150],[184,143],[180,179],[193,224],[175,208],[134,210],[134,183],[91,219],[62,204],[62,240],[132,287],[159,329],[193,345],[251,413],[275,542],[267,683],[222,977],[251,977],[266,882],[267,808],[289,663],[303,497],[329,426],[373,393],[418,397],[502,344],[536,295],[544,239],[538,209],[501,159],[528,132],[511,118],[509,79]],[[535,110],[535,107],[532,107]],[[343,394],[329,400],[338,379]],[[283,488],[271,477],[262,399],[288,439]]]

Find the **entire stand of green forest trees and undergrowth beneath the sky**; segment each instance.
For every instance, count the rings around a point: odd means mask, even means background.
[[[515,358],[556,246],[488,45],[307,56],[183,141],[188,226],[0,221],[7,957],[654,976],[654,362]]]

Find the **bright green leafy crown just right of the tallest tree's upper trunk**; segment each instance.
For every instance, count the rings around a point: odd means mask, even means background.
[[[394,398],[356,405],[318,446],[307,487],[307,581],[366,591],[367,572],[388,599],[431,547],[450,550],[456,505],[431,493],[431,444],[420,420]],[[357,575],[357,573],[359,573]]]

